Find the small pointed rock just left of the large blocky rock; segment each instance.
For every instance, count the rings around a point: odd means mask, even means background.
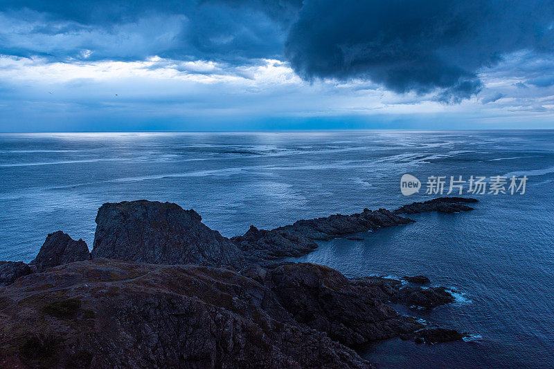
[[[30,264],[35,265],[38,272],[44,272],[49,267],[89,260],[90,257],[89,247],[84,240],[75,241],[69,234],[56,231],[48,234],[37,257]]]

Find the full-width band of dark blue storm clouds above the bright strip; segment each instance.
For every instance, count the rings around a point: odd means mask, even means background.
[[[481,90],[480,68],[512,52],[551,57],[553,21],[553,0],[4,0],[0,54],[230,68],[285,58],[308,81],[364,79],[460,102]]]

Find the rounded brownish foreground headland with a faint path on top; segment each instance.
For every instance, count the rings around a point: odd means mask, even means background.
[[[12,366],[369,368],[229,269],[100,258],[3,288],[0,325],[17,329],[3,330],[0,363]]]

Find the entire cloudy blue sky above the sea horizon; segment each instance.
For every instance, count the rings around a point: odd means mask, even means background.
[[[553,129],[554,0],[2,0],[0,131]]]

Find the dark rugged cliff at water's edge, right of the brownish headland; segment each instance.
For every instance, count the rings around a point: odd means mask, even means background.
[[[266,281],[298,323],[325,332],[346,346],[422,328],[415,319],[400,316],[387,305],[389,295],[377,296],[369,287],[370,282],[366,288],[359,288],[330,267],[310,263],[283,265],[272,270]],[[371,287],[380,290],[378,285]],[[391,294],[396,292],[395,288],[391,290]]]

